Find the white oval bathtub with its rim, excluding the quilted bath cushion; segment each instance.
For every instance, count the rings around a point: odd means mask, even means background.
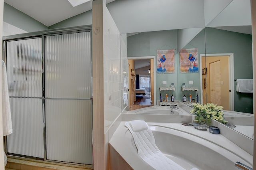
[[[138,156],[132,134],[121,122],[109,144],[134,170],[153,169]],[[190,170],[234,170],[241,162],[252,167],[253,156],[221,134],[196,130],[180,123],[148,123],[156,145],[168,158]]]

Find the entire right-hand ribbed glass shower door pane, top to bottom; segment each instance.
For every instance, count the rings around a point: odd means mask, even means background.
[[[90,35],[45,37],[47,160],[93,164]]]

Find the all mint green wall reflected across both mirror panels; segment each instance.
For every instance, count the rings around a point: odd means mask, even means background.
[[[177,49],[177,31],[156,31],[144,32],[127,38],[128,57],[150,56],[157,54],[157,49]],[[206,34],[206,38],[204,38]],[[206,39],[206,47],[205,47]],[[234,79],[252,79],[252,36],[215,28],[205,28],[195,38],[193,38],[183,48],[198,48],[199,55],[204,53],[234,53]],[[206,48],[206,51],[205,51]],[[188,87],[200,88],[200,73],[180,73],[179,53],[175,51],[175,73],[174,74],[156,74],[156,99],[159,99],[159,87],[163,87],[162,80],[167,81],[166,86],[174,82],[176,91],[168,91],[168,96],[174,94],[175,100],[182,100],[185,94],[187,98],[192,94],[195,99],[199,91],[181,91],[182,83]],[[198,61],[198,64],[200,61]],[[188,85],[188,80],[193,80],[193,85]],[[234,81],[236,89],[236,82]],[[162,95],[165,92],[162,93]],[[253,94],[252,93],[234,93],[234,111],[252,113]],[[201,100],[199,98],[199,100]]]

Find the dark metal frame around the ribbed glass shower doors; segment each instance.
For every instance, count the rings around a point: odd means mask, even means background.
[[[79,163],[71,163],[71,162],[62,162],[62,161],[55,161],[55,160],[48,160],[47,159],[47,153],[46,153],[46,126],[45,126],[45,101],[46,100],[52,100],[52,99],[58,99],[62,100],[60,98],[46,98],[45,97],[45,38],[47,36],[54,36],[54,35],[60,35],[60,34],[72,34],[72,33],[79,33],[79,32],[90,32],[90,37],[92,37],[92,26],[79,26],[79,27],[73,27],[73,28],[64,28],[64,29],[53,29],[53,30],[45,30],[45,31],[40,31],[40,32],[32,32],[32,33],[25,33],[25,34],[18,34],[18,35],[13,35],[13,36],[6,36],[3,37],[3,51],[2,51],[2,56],[4,57],[3,60],[6,62],[6,49],[7,49],[7,42],[10,41],[16,41],[16,40],[26,40],[26,39],[34,39],[34,38],[42,38],[42,97],[39,97],[39,99],[42,99],[42,111],[43,111],[43,134],[44,134],[44,161],[47,162],[55,162],[55,163],[62,163],[62,164],[72,164],[72,165],[78,165],[78,166],[85,166],[86,164],[79,164]],[[90,52],[90,64],[92,66],[92,39],[91,39],[91,52]],[[91,67],[91,77],[92,77],[92,67]],[[92,79],[91,81],[91,87],[92,87]],[[91,88],[92,89],[92,88]],[[92,91],[91,91],[91,96],[92,96]],[[65,98],[68,99],[68,98]],[[91,100],[92,103],[92,97],[91,98],[80,98],[80,99],[74,99],[74,100]],[[91,113],[92,114],[92,113]],[[4,137],[4,149],[7,152],[7,136]],[[37,159],[37,160],[42,160],[41,158],[36,158],[32,156],[26,156],[26,155],[18,155],[18,154],[12,154],[8,153],[13,156],[20,156],[23,157],[22,159]],[[92,155],[93,156],[93,155]],[[12,156],[10,156],[12,157]],[[88,167],[93,167],[92,165],[86,165]]]

